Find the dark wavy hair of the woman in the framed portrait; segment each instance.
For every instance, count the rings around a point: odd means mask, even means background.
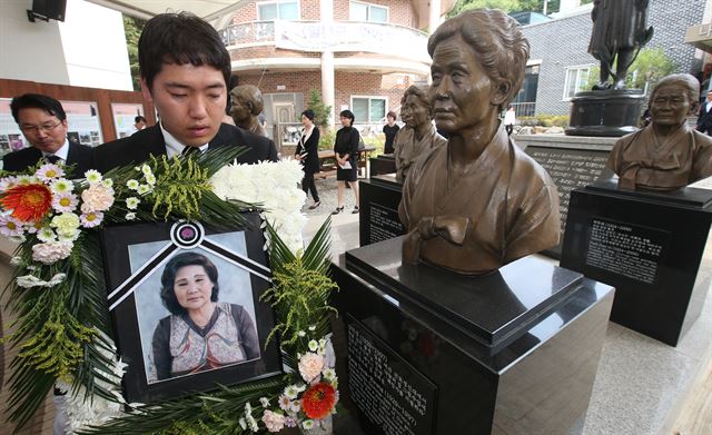
[[[212,294],[210,295],[211,301],[218,301],[218,294],[220,291],[220,286],[218,285],[218,268],[215,267],[208,257],[197,253],[178,254],[166,264],[164,274],[160,277],[160,299],[164,301],[164,306],[170,312],[170,314],[176,316],[187,313],[186,308],[178,304],[176,290],[174,289],[176,274],[178,274],[178,270],[181,267],[186,266],[202,266],[208,278],[212,281]]]

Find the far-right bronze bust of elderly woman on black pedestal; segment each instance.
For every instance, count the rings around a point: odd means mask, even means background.
[[[619,139],[609,167],[625,189],[674,190],[712,176],[712,138],[688,126],[698,109],[700,83],[686,73],[655,85],[651,123]]]

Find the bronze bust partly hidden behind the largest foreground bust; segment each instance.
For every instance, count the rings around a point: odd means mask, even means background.
[[[411,167],[429,149],[447,142],[433,126],[427,90],[427,87],[411,86],[400,98],[400,119],[405,127],[398,130],[393,141],[398,181],[405,179]]]

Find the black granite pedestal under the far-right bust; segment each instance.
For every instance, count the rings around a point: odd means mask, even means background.
[[[712,192],[572,191],[561,266],[616,288],[611,320],[676,346],[710,287]]]

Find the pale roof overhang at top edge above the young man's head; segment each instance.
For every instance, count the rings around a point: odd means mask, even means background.
[[[220,18],[239,7],[246,0],[87,0],[91,3],[118,10],[127,16],[150,19],[167,11],[191,12],[206,21]]]

